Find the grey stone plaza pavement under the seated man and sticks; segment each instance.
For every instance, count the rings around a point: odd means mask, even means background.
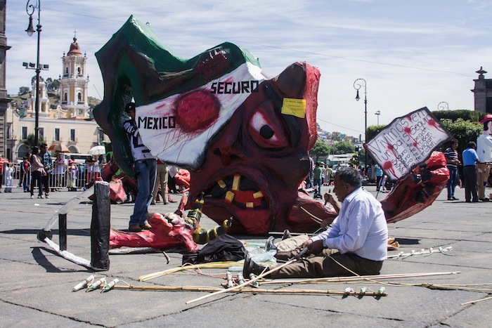
[[[328,187],[323,187],[323,192]],[[331,189],[331,188],[330,188]],[[367,188],[375,194],[375,188]],[[491,190],[486,190],[486,195]],[[491,327],[492,300],[461,305],[490,296],[487,291],[439,290],[420,286],[386,285],[388,296],[221,294],[186,305],[205,295],[196,291],[112,290],[101,294],[72,292],[72,287],[90,275],[86,268],[54,254],[37,240],[37,232],[75,192],[51,192],[50,199],[30,199],[15,188],[0,194],[0,327]],[[378,195],[378,199],[385,197]],[[172,195],[176,198],[176,195]],[[491,203],[467,204],[464,190],[459,201],[446,200],[444,190],[436,202],[419,214],[389,225],[389,235],[400,251],[453,247],[449,255],[410,256],[384,262],[382,275],[445,273],[456,275],[384,280],[411,284],[491,284]],[[113,228],[125,229],[133,204],[111,206]],[[152,206],[161,213],[174,211],[175,204]],[[90,259],[91,204],[82,203],[68,215],[68,251]],[[208,218],[202,226],[212,228]],[[53,240],[58,243],[58,224]],[[264,242],[266,237],[248,238]],[[128,284],[200,285],[219,287],[223,280],[196,273],[174,273],[147,282],[141,275],[181,265],[181,254],[162,253],[110,256],[110,270],[96,277],[114,277]],[[203,270],[224,274],[225,269]],[[124,285],[120,282],[119,285]],[[271,285],[267,288],[377,290],[382,284]],[[474,289],[489,289],[479,285]]]

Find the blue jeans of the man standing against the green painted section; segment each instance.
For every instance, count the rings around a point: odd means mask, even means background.
[[[147,223],[146,216],[148,206],[152,202],[156,168],[157,161],[155,159],[138,159],[135,161],[138,192],[135,199],[134,214],[130,216],[130,225]]]

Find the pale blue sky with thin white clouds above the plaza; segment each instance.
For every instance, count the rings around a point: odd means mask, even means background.
[[[35,74],[22,67],[35,62],[37,42],[25,33],[25,6],[7,1],[8,93],[29,86]],[[94,53],[130,15],[149,22],[162,44],[183,58],[231,41],[257,56],[271,76],[297,61],[318,67],[318,124],[352,136],[364,131],[358,78],[367,82],[373,125],[377,110],[380,124],[420,107],[437,110],[441,102],[450,110],[473,110],[475,71],[483,66],[492,77],[492,1],[479,0],[41,0],[40,61],[50,65],[41,75],[58,78],[77,30],[89,58],[89,96],[101,98]]]

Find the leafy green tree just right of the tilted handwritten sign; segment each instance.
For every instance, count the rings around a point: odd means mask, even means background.
[[[455,122],[451,121],[451,119],[441,119],[441,124],[451,132],[453,138],[458,139],[459,155],[467,148],[469,141],[477,142],[477,138],[484,131],[484,126],[480,122],[470,122],[463,119],[456,119]],[[443,152],[450,146],[451,143],[446,143],[437,150]]]

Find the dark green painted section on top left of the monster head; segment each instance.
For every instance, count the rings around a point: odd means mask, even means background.
[[[93,110],[96,122],[110,137],[115,161],[134,177],[133,159],[122,128],[124,106],[131,98],[137,106],[186,93],[219,79],[243,63],[259,65],[249,51],[225,42],[193,58],[180,58],[161,44],[150,25],[133,15],[96,53],[104,81],[104,99]]]

